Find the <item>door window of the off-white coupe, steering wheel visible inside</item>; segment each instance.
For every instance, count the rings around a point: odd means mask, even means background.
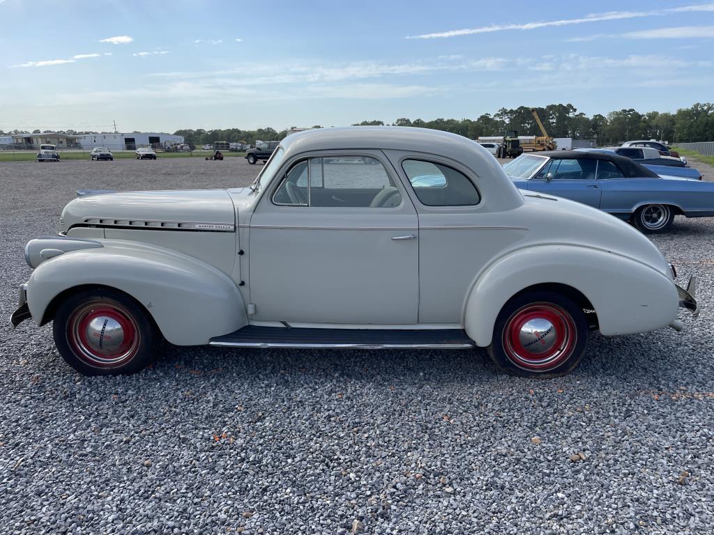
[[[323,208],[395,208],[401,205],[401,194],[375,158],[331,156],[293,165],[273,202]]]

